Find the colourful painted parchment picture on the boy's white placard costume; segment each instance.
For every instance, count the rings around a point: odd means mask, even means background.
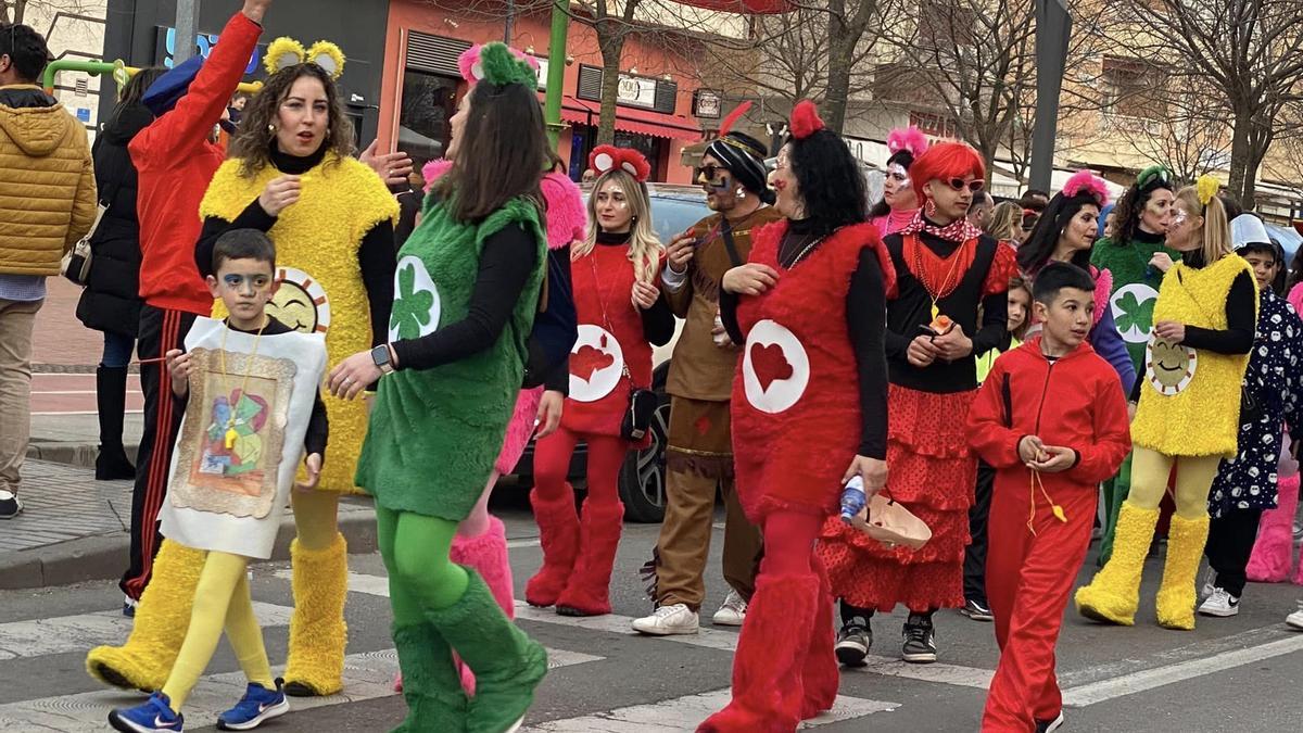
[[[288,359],[192,352],[190,398],[177,441],[172,503],[266,516],[276,496],[296,372]]]

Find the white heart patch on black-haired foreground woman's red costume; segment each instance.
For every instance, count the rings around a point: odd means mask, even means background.
[[[747,335],[741,363],[747,402],[777,415],[800,402],[810,381],[810,360],[791,330],[777,321],[757,322]]]

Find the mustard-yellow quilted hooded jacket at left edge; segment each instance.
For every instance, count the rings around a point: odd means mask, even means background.
[[[0,86],[0,274],[57,275],[94,222],[86,128],[38,86]]]

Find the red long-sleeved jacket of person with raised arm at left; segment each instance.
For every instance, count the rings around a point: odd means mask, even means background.
[[[203,224],[199,202],[225,158],[208,137],[261,34],[261,25],[236,13],[185,97],[129,146],[139,173],[141,297],[155,308],[199,316],[212,310],[212,295],[194,266],[194,243]]]

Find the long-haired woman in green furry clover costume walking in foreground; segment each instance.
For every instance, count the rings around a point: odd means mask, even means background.
[[[452,168],[399,250],[390,343],[330,376],[345,398],[380,381],[357,485],[375,497],[408,732],[515,730],[547,670],[543,647],[483,579],[448,560],[520,391],[547,247],[536,72],[502,43],[485,46],[481,64],[451,120]],[[476,674],[474,698],[453,651]]]

